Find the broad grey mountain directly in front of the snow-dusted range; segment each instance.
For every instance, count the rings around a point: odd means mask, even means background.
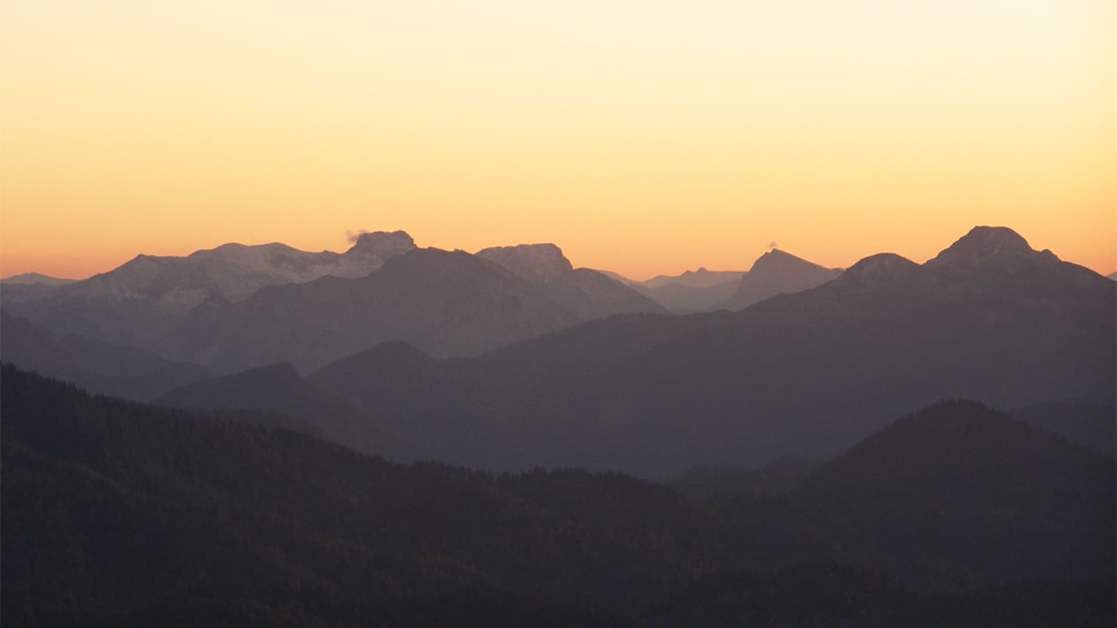
[[[433,355],[470,355],[579,321],[496,264],[416,249],[365,277],[268,286],[195,312],[159,349],[219,372],[275,362],[308,371],[392,340]]]

